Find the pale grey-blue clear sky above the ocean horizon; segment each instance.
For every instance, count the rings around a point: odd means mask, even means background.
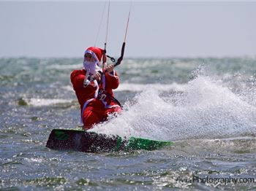
[[[121,52],[130,5],[110,1],[109,55]],[[255,56],[255,10],[255,1],[132,1],[125,56]],[[107,15],[105,1],[0,1],[0,58],[79,58],[104,47]]]

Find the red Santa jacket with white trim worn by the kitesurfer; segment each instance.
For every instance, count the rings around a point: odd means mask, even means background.
[[[113,89],[116,89],[119,85],[119,77],[116,71],[111,73],[105,73],[102,77],[102,83],[100,85],[94,81],[93,85],[84,85],[86,77],[86,70],[75,70],[70,74],[70,79],[75,90],[75,94],[77,95],[78,102],[80,104],[81,112],[83,111],[85,104],[89,104],[89,102],[97,102],[102,101],[105,108],[110,108],[113,106],[118,106],[118,104],[113,101],[111,96],[113,96]],[[96,82],[96,83],[95,83]],[[102,96],[99,98],[98,93],[101,90],[105,90],[106,94],[110,96]],[[95,99],[98,98],[98,99]]]

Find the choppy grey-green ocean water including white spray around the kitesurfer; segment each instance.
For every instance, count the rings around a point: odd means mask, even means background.
[[[45,147],[79,128],[80,58],[0,59],[0,190],[255,190],[256,58],[126,58],[118,117],[93,131],[174,141],[155,151]]]

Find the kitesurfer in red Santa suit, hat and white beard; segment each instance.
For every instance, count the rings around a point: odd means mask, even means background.
[[[104,62],[100,63],[102,59]],[[114,65],[107,66],[105,61],[105,50],[89,47],[84,53],[83,69],[72,71],[70,75],[85,130],[108,120],[108,114],[121,112],[120,103],[113,97],[113,89],[118,87],[119,77]]]

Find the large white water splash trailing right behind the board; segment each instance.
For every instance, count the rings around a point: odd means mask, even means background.
[[[184,87],[184,85],[183,85]],[[256,109],[225,83],[198,76],[182,93],[146,88],[94,131],[159,140],[219,139],[256,133]]]

